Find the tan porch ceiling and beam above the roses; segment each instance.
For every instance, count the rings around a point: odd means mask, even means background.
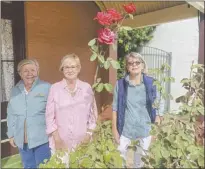
[[[126,19],[124,26],[144,27],[198,16],[195,6],[186,1],[95,1],[101,11],[115,8],[123,12],[123,4],[134,3],[134,19]]]

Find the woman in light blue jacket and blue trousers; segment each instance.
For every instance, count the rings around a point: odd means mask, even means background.
[[[24,168],[37,168],[51,152],[45,125],[50,84],[38,78],[39,64],[25,59],[18,64],[22,80],[12,89],[7,108],[7,135],[18,147]]]

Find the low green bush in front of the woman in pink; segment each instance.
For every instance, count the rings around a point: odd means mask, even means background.
[[[40,168],[65,168],[65,164],[57,157],[64,152],[55,154]],[[70,168],[122,168],[123,159],[113,142],[111,121],[98,122],[93,140],[88,144],[79,145],[69,154]]]

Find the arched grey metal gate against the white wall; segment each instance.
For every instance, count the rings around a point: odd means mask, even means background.
[[[169,66],[171,66],[172,62],[172,53],[166,52],[164,50],[149,47],[149,46],[142,46],[137,49],[137,52],[140,53],[143,57],[143,59],[146,61],[148,69],[155,69],[160,68],[164,63],[167,63]],[[166,72],[167,76],[171,76],[171,70]],[[159,79],[157,75],[154,76],[154,78]],[[171,92],[171,83],[166,82],[165,83],[165,89],[168,94]],[[168,111],[170,109],[170,99],[167,99],[165,101],[165,111]]]

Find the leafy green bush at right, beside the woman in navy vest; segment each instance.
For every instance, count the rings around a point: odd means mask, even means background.
[[[152,126],[156,140],[143,158],[148,168],[204,168],[204,147],[196,142],[196,119],[204,115],[204,66],[192,65],[181,83],[187,92],[176,99],[180,112],[166,113]]]

